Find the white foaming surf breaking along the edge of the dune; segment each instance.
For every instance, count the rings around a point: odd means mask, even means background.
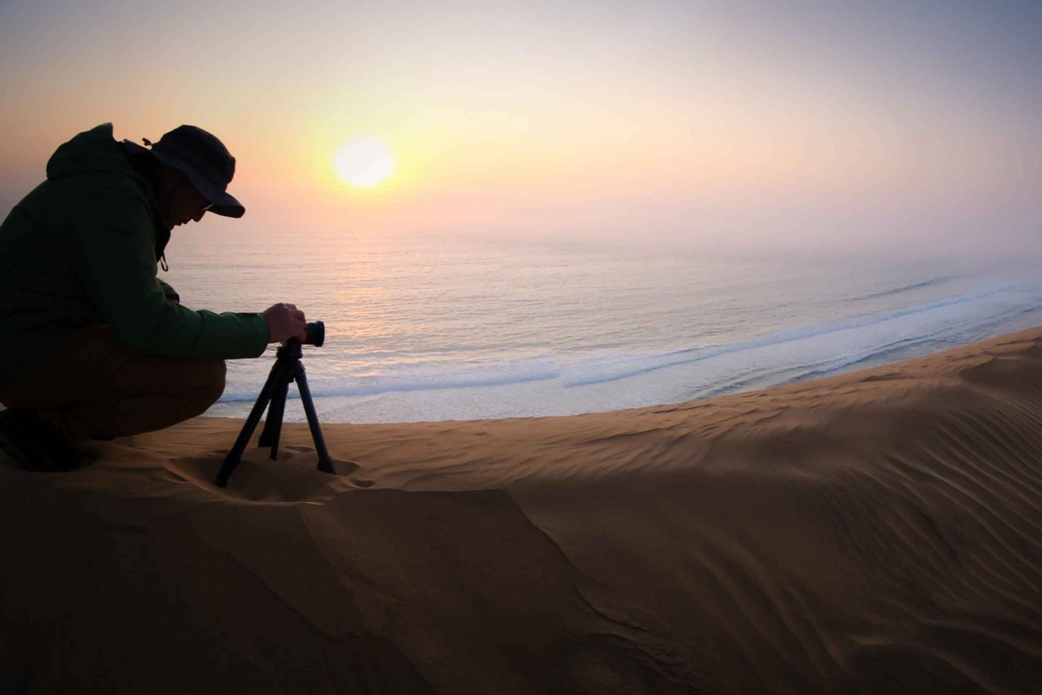
[[[1038,315],[1039,312],[1032,312],[1032,321],[1014,321],[998,334],[989,330],[970,331],[958,340],[951,337],[945,340],[936,337],[931,340],[902,338],[897,344],[877,346],[868,351],[862,351],[857,346],[848,346],[849,351],[823,350],[817,344],[819,337],[809,334],[782,342],[766,337],[716,347],[681,349],[677,354],[673,354],[672,350],[635,353],[623,361],[631,365],[622,372],[619,372],[621,368],[618,365],[597,366],[599,361],[607,357],[548,357],[548,362],[539,367],[540,374],[535,375],[525,373],[535,369],[532,365],[522,368],[527,364],[524,361],[506,361],[496,368],[496,371],[502,369],[513,374],[510,378],[504,377],[503,381],[481,381],[478,378],[481,370],[491,368],[486,365],[481,369],[475,367],[477,371],[474,373],[452,377],[427,374],[420,381],[405,379],[397,387],[390,383],[359,386],[347,376],[343,384],[338,384],[325,379],[327,371],[336,375],[337,369],[323,362],[325,356],[321,351],[307,355],[305,363],[311,368],[313,397],[323,422],[395,424],[568,417],[704,400],[829,378],[1028,329],[1038,321]],[[641,366],[638,368],[635,365]],[[233,376],[226,393],[205,414],[206,417],[245,418],[256,400],[268,366],[263,358],[248,366],[254,382],[249,390],[242,383],[245,373]],[[237,365],[235,369],[245,368]],[[390,373],[393,371],[391,369]],[[377,381],[394,381],[390,373],[374,378]],[[472,378],[478,380],[470,382]],[[304,421],[293,389],[287,418],[295,422]]]

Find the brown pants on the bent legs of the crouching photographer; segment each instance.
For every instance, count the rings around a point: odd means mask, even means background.
[[[163,429],[202,414],[224,392],[224,362],[135,352],[111,326],[84,328],[14,387],[0,403],[33,408],[70,442]]]

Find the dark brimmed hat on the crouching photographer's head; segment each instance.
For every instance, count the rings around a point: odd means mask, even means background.
[[[242,217],[246,208],[228,193],[235,175],[235,157],[215,135],[194,125],[180,125],[163,135],[151,149],[129,140],[124,144],[132,152],[148,152],[156,159],[183,173],[202,196],[214,203],[210,213]],[[145,144],[150,144],[147,140]]]

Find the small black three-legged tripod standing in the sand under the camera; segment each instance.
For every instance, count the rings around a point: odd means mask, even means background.
[[[321,345],[322,343],[318,342],[316,344]],[[278,437],[282,431],[282,414],[286,412],[286,396],[289,393],[290,383],[293,381],[297,382],[297,389],[300,391],[300,400],[303,401],[304,413],[307,415],[307,426],[312,430],[312,439],[315,440],[315,449],[319,454],[319,470],[323,473],[333,472],[332,462],[329,461],[329,452],[325,448],[325,440],[322,439],[322,430],[319,429],[319,416],[315,413],[315,403],[312,402],[312,392],[307,388],[304,366],[300,364],[301,356],[303,356],[303,350],[300,341],[296,338],[291,338],[278,348],[278,351],[275,353],[275,364],[268,374],[268,380],[265,381],[264,388],[260,389],[257,402],[253,404],[253,409],[250,411],[250,416],[246,418],[243,430],[239,432],[239,439],[235,440],[235,444],[231,447],[228,455],[224,457],[224,465],[221,466],[221,472],[217,474],[217,486],[219,488],[228,485],[228,478],[235,471],[235,466],[239,465],[239,460],[246,449],[246,444],[250,441],[250,437],[253,436],[253,430],[256,429],[257,422],[260,421],[260,416],[264,414],[265,408],[268,407],[269,401],[271,401],[271,407],[268,409],[268,419],[265,421],[257,445],[270,446],[271,460],[275,461],[275,456],[278,455]]]

